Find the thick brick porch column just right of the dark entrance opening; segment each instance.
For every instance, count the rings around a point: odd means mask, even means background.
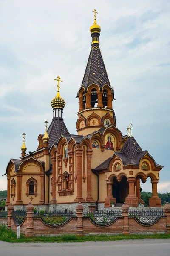
[[[138,207],[138,198],[135,195],[135,182],[136,178],[127,178],[127,181],[129,183],[129,195],[126,198],[126,203],[129,206]]]

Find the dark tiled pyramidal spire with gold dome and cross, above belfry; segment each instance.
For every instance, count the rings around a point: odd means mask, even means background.
[[[99,36],[101,27],[96,22],[96,9],[94,9],[94,24],[90,27],[92,43],[91,51],[88,58],[87,66],[85,68],[85,74],[82,79],[81,87],[84,87],[85,90],[91,84],[97,84],[102,90],[104,85],[111,87],[108,74],[105,68],[105,64],[102,58],[102,53],[99,47]],[[113,90],[112,90],[113,91]],[[79,96],[79,92],[78,92]],[[113,95],[114,98],[114,95]]]

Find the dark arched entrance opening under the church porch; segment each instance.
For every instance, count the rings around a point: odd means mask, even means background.
[[[112,195],[116,198],[116,204],[124,203],[125,198],[129,194],[129,183],[127,177],[122,177],[120,182],[117,181],[116,177],[113,178]]]

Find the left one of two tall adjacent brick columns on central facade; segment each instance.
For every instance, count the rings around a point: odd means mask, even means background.
[[[74,201],[85,201],[82,198],[82,148],[76,149],[77,169],[77,197]]]

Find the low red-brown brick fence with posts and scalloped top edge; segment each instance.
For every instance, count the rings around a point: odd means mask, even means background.
[[[31,202],[27,205],[27,215],[20,224],[20,232],[26,237],[50,236],[60,234],[134,234],[134,233],[170,233],[170,204],[164,206],[164,215],[155,221],[141,223],[135,216],[129,215],[129,206],[125,202],[122,206],[122,215],[105,225],[99,225],[88,215],[83,215],[83,206],[79,203],[76,207],[76,215],[65,222],[55,226],[45,223],[41,217],[34,216],[34,206]],[[17,232],[17,224],[13,219],[14,206],[8,206],[8,229]]]

